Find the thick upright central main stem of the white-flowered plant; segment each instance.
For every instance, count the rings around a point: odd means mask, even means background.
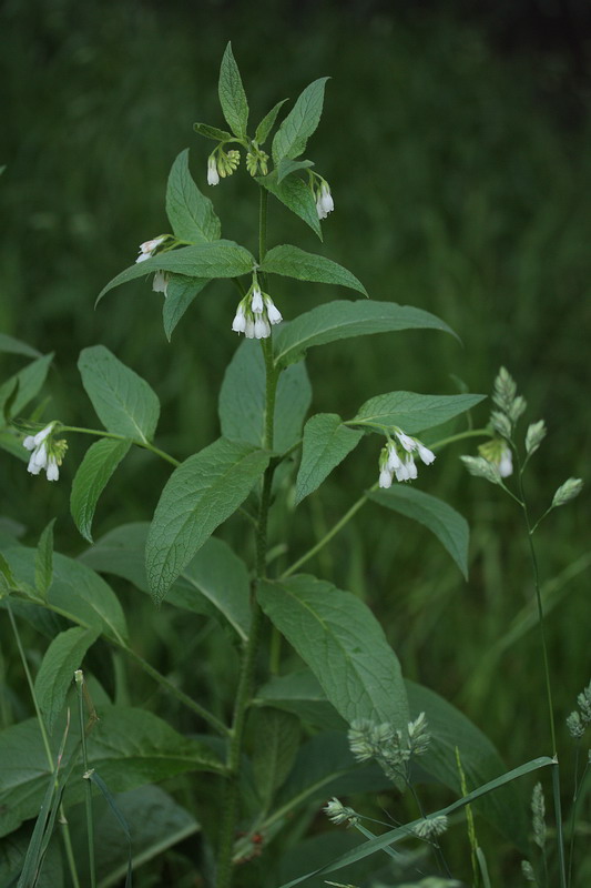
[[[259,262],[262,262],[266,253],[267,230],[267,193],[264,189],[261,189],[259,198],[258,252]],[[265,448],[267,451],[273,451],[275,395],[277,392],[277,381],[281,371],[275,367],[273,361],[273,345],[271,339],[262,340],[261,345],[263,349],[266,371]],[[220,829],[216,879],[217,888],[230,888],[232,884],[232,850],[234,847],[234,833],[238,816],[238,789],[244,743],[244,725],[248,705],[252,698],[255,665],[258,655],[258,646],[264,619],[263,610],[256,601],[256,587],[258,582],[266,576],[268,508],[271,505],[273,474],[276,466],[277,460],[272,458],[263,478],[263,490],[261,493],[261,504],[258,508],[256,528],[256,577],[253,582],[251,595],[251,630],[243,653],[238,688],[236,692],[236,699],[234,702],[234,717],[232,720],[232,731],[227,754],[227,783],[225,787],[222,808],[222,824]]]

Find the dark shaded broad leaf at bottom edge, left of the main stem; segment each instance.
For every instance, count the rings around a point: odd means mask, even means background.
[[[142,786],[119,793],[114,798],[122,816],[132,825],[134,869],[200,831],[193,815],[159,786]],[[95,799],[94,807],[99,804]],[[120,885],[128,872],[129,846],[113,817],[101,817],[100,814],[96,817],[94,847],[100,887]]]

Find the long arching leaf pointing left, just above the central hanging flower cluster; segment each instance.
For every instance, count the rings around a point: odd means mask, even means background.
[[[112,281],[103,286],[96,296],[95,305],[110,290],[136,278],[143,278],[156,271],[172,271],[187,278],[237,278],[248,274],[255,266],[255,261],[244,246],[238,246],[234,241],[212,241],[197,243],[192,246],[181,246],[165,253],[156,253],[145,262],[136,262],[129,269],[116,274]]]

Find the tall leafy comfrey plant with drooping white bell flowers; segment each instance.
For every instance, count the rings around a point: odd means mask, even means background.
[[[152,275],[152,289],[162,294],[164,332],[170,339],[182,320],[191,323],[198,313],[198,304],[193,303],[197,296],[207,299],[212,281],[228,282],[225,327],[228,335],[244,334],[244,340],[235,340],[237,347],[221,386],[216,441],[190,454],[162,450],[154,442],[160,417],[156,393],[101,345],[82,351],[79,370],[103,428],[45,417],[43,402],[34,408],[30,405],[42,389],[51,356],[39,356],[23,343],[2,339],[12,352],[34,360],[0,389],[4,417],[0,446],[28,463],[31,474],[45,471],[49,481],[58,481],[63,462],[62,474],[73,474],[71,514],[90,544],[78,558],[54,554],[53,522],[37,548],[22,545],[10,526],[0,535],[0,605],[8,614],[35,713],[34,719],[20,724],[4,722],[0,731],[0,761],[10,761],[11,774],[17,775],[0,786],[0,829],[2,835],[16,836],[19,852],[10,858],[16,860],[10,866],[11,878],[17,871],[17,880],[21,879],[19,886],[35,882],[48,855],[54,852],[61,866],[60,848],[52,841],[57,824],[70,882],[85,884],[81,866],[92,888],[99,871],[103,879],[102,855],[113,859],[109,856],[112,841],[95,824],[93,794],[102,794],[115,813],[124,847],[128,842],[132,847],[132,828],[133,847],[150,849],[145,857],[153,847],[166,849],[180,837],[196,835],[200,826],[194,811],[198,810],[204,827],[195,840],[198,850],[192,857],[192,879],[197,878],[196,866],[198,878],[217,888],[234,881],[268,888],[285,884],[287,888],[306,879],[310,874],[282,869],[283,849],[306,859],[306,831],[326,799],[364,789],[368,780],[374,788],[388,789],[393,781],[408,788],[412,804],[418,803],[416,785],[426,777],[460,798],[431,814],[418,804],[417,820],[379,837],[366,833],[367,842],[317,872],[336,871],[381,849],[398,866],[399,852],[391,846],[410,837],[435,848],[437,870],[432,877],[417,874],[412,864],[412,881],[456,884],[438,837],[450,814],[478,805],[492,790],[496,805],[485,806],[485,815],[509,840],[519,844],[527,838],[523,808],[512,781],[553,759],[534,759],[505,773],[502,759],[468,719],[432,692],[404,680],[379,623],[358,596],[336,588],[327,577],[300,573],[363,507],[377,504],[427,526],[466,575],[467,524],[449,505],[416,488],[415,460],[430,465],[447,444],[483,436],[487,448],[470,467],[505,486],[513,452],[511,434],[521,408],[503,376],[495,396],[499,411],[486,430],[463,425],[463,414],[483,397],[466,393],[387,391],[369,397],[349,418],[336,413],[306,418],[312,402],[305,366],[308,349],[374,333],[417,329],[451,333],[426,311],[366,299],[357,278],[330,259],[293,244],[272,245],[269,199],[319,238],[320,223],[336,212],[326,178],[316,172],[313,161],[303,159],[320,120],[326,80],[307,87],[281,122],[284,101],[253,128],[228,44],[218,83],[228,129],[196,123],[195,131],[214,142],[208,158],[201,155],[205,189],[230,186],[228,178],[238,174],[244,160],[242,169],[258,201],[257,254],[222,238],[222,222],[194,181],[185,150],[174,161],[167,182],[170,231],[154,236],[145,232],[149,240],[141,244],[135,262],[130,260],[130,266],[99,294],[101,301],[113,287]],[[277,281],[285,278],[296,286],[298,282],[322,284],[319,304],[297,316],[288,296],[277,297]],[[320,301],[329,285],[364,299]],[[228,295],[231,286],[240,292],[237,306]],[[444,424],[445,437],[438,431]],[[452,424],[456,428],[450,431]],[[73,434],[98,438],[79,466],[63,461],[67,443],[61,436]],[[278,509],[287,503],[282,516],[297,522],[297,506],[320,488],[366,435],[374,440],[377,435],[380,443],[360,498],[307,552],[293,552],[289,542],[279,548],[269,546],[269,539],[275,542]],[[538,431],[528,433],[528,458],[541,436],[539,424]],[[150,522],[115,527],[95,543],[92,522],[100,496],[134,447],[173,471]],[[395,478],[398,484],[393,483]],[[31,478],[31,484],[43,483]],[[573,494],[577,482],[569,483],[553,505]],[[238,526],[243,522],[238,536],[245,542],[240,552],[223,535],[230,518]],[[194,622],[195,645],[203,645],[203,653],[195,657],[192,652],[191,668],[172,680],[134,649],[126,615],[103,574],[150,593],[159,606],[165,603],[180,609],[185,628]],[[24,622],[50,637],[37,675],[22,644]],[[206,633],[201,632],[204,622]],[[235,682],[227,680],[226,672],[213,683],[213,665],[201,668],[212,656],[207,636],[227,664],[237,654]],[[94,645],[82,672],[82,662]],[[185,708],[193,719],[190,734],[137,708],[140,700],[128,705],[131,692],[118,695],[120,705],[114,705],[105,689],[110,687],[104,675],[106,653],[113,657],[116,676],[125,663],[133,663]],[[74,703],[78,718],[71,717]],[[445,724],[457,749],[441,740],[439,730],[428,737],[427,723]],[[207,733],[211,736],[204,736]],[[420,767],[415,769],[418,756]],[[467,774],[466,789],[458,779],[457,756]],[[164,790],[154,795],[154,787],[146,787],[188,773],[192,777],[184,783],[181,799]],[[82,801],[83,818],[72,807]],[[150,806],[161,811],[155,818],[162,829],[156,829],[157,835],[144,823],[149,818],[143,811]],[[142,814],[131,825],[125,810]],[[336,799],[327,813],[336,821],[353,818],[365,829],[354,809]],[[70,830],[70,817],[85,820],[84,840],[80,830]],[[29,829],[32,818],[35,825]],[[181,826],[171,835],[166,824],[173,821]],[[376,869],[381,866],[378,857]],[[115,874],[125,871],[131,884],[131,851],[129,859],[124,856],[115,864],[102,884],[114,884]]]

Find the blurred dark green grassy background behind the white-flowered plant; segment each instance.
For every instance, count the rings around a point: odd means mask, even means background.
[[[48,418],[84,424],[92,415],[75,361],[82,347],[103,343],[159,392],[169,434],[162,446],[183,458],[217,435],[218,387],[237,345],[230,331],[232,287],[217,282],[204,291],[173,334],[174,349],[162,331],[161,296],[143,282],[109,295],[96,312],[93,302],[135,258],[137,244],[164,230],[165,181],[183,148],[191,148],[193,174],[206,188],[208,147],[192,123],[221,123],[214,84],[232,39],[257,97],[255,117],[295,98],[312,79],[332,75],[315,137],[317,167],[336,204],[325,253],[350,268],[374,297],[435,312],[463,343],[421,332],[396,337],[395,349],[384,336],[318,350],[308,361],[314,410],[349,416],[369,394],[394,389],[451,394],[452,374],[470,391],[488,392],[502,363],[528,398],[528,418],[544,417],[549,427],[531,470],[533,503],[542,509],[565,477],[585,477],[591,168],[584,12],[572,4],[574,30],[559,17],[552,33],[542,14],[550,10],[551,24],[551,4],[533,3],[538,19],[524,21],[511,6],[496,6],[491,18],[473,7],[466,16],[459,2],[409,11],[371,2],[296,8],[267,0],[255,8],[210,0],[193,8],[122,0],[81,8],[72,0],[8,0],[0,330],[55,351]],[[532,33],[531,22],[544,27]],[[251,225],[254,248],[247,188],[235,176],[215,198],[225,236],[241,238]],[[278,243],[291,240],[295,225],[273,204]],[[312,233],[298,243],[317,249]],[[286,282],[278,294],[284,315],[312,307],[318,293]],[[2,370],[12,370],[10,356]],[[485,421],[485,410],[477,418]],[[60,514],[57,548],[83,549],[65,517],[83,444],[71,440],[57,485],[2,457],[1,512],[22,524],[26,539],[35,541]],[[369,506],[325,552],[319,571],[334,568],[337,585],[371,604],[405,674],[458,705],[513,766],[550,751],[538,637],[524,620],[532,609],[527,541],[518,511],[465,473],[462,452],[447,452],[416,483],[470,521],[467,584],[427,533],[395,516],[385,521]],[[165,477],[165,466],[134,454],[101,502],[95,536],[151,516]],[[303,505],[309,521],[291,533],[291,553],[309,545],[376,477],[375,445],[364,443],[332,485]],[[560,719],[589,680],[587,508],[583,496],[540,532]],[[231,524],[230,535],[242,532]],[[122,595],[136,615],[134,643],[143,656],[175,680],[186,680],[191,666],[191,682],[208,686],[223,709],[232,658],[212,644],[206,662],[192,663],[194,627],[166,608],[155,613],[143,596],[125,588]],[[6,626],[0,634],[9,652],[7,684],[17,687]],[[104,680],[114,684],[108,669]],[[126,687],[145,704],[153,688],[142,682],[131,673]],[[151,705],[166,715],[164,698]],[[26,696],[11,698],[9,709],[16,719],[27,714]],[[587,813],[589,821],[589,804]]]

